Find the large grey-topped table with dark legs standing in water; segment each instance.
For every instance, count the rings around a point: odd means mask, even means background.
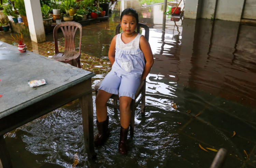
[[[73,101],[80,100],[85,150],[96,156],[93,146],[91,77],[95,74],[0,41],[0,161],[12,167],[3,135]],[[29,87],[32,80],[46,85]],[[1,167],[1,164],[0,164]]]

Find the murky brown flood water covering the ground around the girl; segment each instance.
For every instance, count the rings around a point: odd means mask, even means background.
[[[72,167],[75,155],[81,168],[206,168],[216,155],[211,149],[220,148],[228,151],[225,168],[256,167],[256,27],[170,17],[163,15],[163,4],[139,6],[118,1],[109,21],[83,27],[82,39],[82,68],[97,74],[94,87],[111,69],[108,50],[120,10],[133,7],[150,27],[155,63],[129,153],[118,153],[119,112],[109,108],[111,136],[95,148],[97,158],[88,159],[80,104],[74,101],[5,135],[14,168]],[[10,34],[0,40],[12,44]],[[38,45],[26,38],[28,50],[53,55],[52,36]]]

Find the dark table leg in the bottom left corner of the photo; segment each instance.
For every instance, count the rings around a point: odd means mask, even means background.
[[[3,135],[0,136],[0,168],[12,168],[12,162]]]

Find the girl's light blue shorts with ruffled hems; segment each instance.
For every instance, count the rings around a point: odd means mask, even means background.
[[[130,77],[111,70],[103,79],[99,90],[119,95],[119,97],[127,96],[135,99],[135,94],[140,86],[140,82],[141,77]]]

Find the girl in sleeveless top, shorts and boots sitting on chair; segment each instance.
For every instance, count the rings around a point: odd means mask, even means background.
[[[134,9],[128,8],[122,12],[120,24],[124,33],[117,34],[111,41],[109,60],[112,69],[102,81],[96,96],[98,134],[94,137],[94,145],[103,145],[110,135],[106,102],[112,94],[117,94],[121,123],[118,150],[122,154],[128,152],[131,101],[135,99],[140,82],[146,79],[154,63],[150,44],[143,35],[135,31],[138,23],[139,16]]]

